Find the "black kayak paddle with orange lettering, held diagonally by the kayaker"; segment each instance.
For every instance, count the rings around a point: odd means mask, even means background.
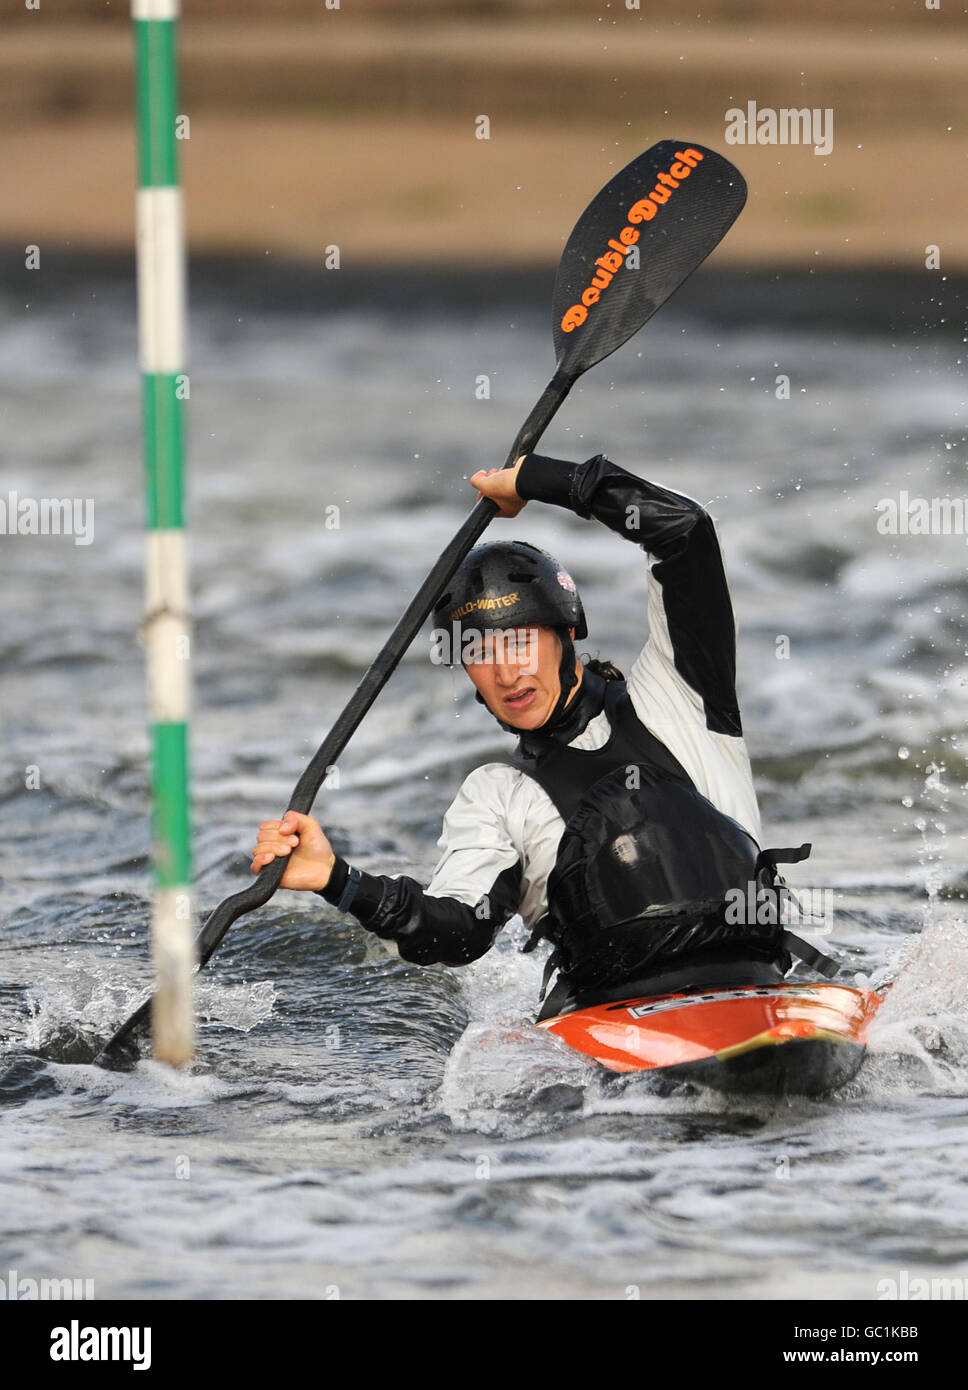
[[[567,239],[555,278],[555,374],[519,430],[505,468],[534,449],[579,377],[648,322],[719,245],[745,196],[743,177],[722,154],[684,140],[659,140],[591,200]],[[441,553],[296,783],[288,810],[310,813],[327,769],[346,748],[451,575],[497,514],[497,505],[483,498]],[[196,941],[199,969],[238,917],[268,902],[285,873],[287,858],[273,859],[250,887],[218,903]],[[138,1061],[150,1008],[149,998],[118,1029],[96,1059],[100,1066]]]

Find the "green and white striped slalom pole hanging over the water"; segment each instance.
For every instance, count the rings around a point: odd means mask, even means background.
[[[185,232],[178,186],[178,0],[132,0],[138,113],[138,328],[147,556],[147,702],[152,721],[154,1056],[193,1055],[188,799],[189,623],[182,513]]]

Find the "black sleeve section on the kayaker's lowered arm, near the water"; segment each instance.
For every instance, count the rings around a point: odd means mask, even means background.
[[[456,898],[433,898],[414,878],[359,872],[352,912],[367,931],[395,941],[403,960],[414,965],[469,965],[494,945],[505,922],[517,912],[522,866],[512,865],[498,874],[490,892],[474,906]],[[350,867],[337,856],[330,883],[320,897],[339,906],[348,890]]]

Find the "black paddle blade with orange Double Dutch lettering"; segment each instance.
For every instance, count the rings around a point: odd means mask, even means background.
[[[719,245],[745,197],[740,171],[688,140],[659,140],[626,164],[588,203],[562,253],[552,307],[558,368],[576,377],[631,338]]]

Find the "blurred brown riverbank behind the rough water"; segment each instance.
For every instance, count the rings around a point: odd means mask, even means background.
[[[6,3],[0,10],[8,10]],[[0,242],[134,236],[131,33],[10,11],[0,54]],[[188,229],[199,252],[341,264],[554,265],[581,207],[654,140],[730,156],[751,196],[727,265],[968,267],[968,33],[955,7],[844,22],[624,6],[281,6],[181,26]],[[648,11],[648,13],[647,13]],[[754,14],[755,11],[755,14]],[[89,13],[93,10],[89,7]],[[253,8],[252,14],[256,14]],[[833,145],[730,145],[726,113],[832,113]],[[490,138],[480,139],[480,118]]]

